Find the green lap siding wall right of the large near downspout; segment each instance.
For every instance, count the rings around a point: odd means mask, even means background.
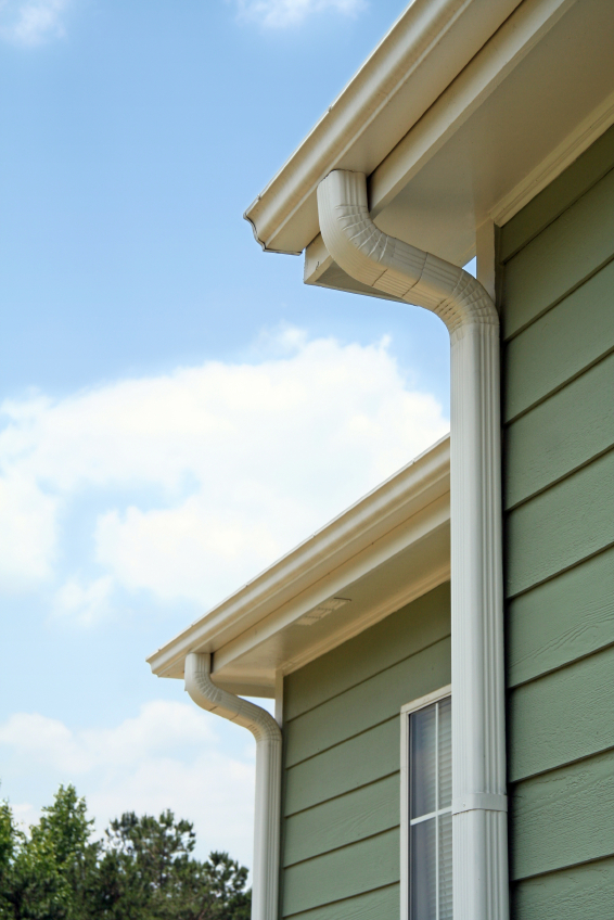
[[[614,905],[614,129],[499,240],[514,920]]]

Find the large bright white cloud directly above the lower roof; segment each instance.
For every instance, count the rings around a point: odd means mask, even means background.
[[[259,363],[7,400],[0,585],[52,578],[71,502],[85,497],[98,504],[79,566],[97,571],[68,572],[57,614],[100,621],[115,585],[210,605],[447,431],[387,341],[285,330],[267,348]]]

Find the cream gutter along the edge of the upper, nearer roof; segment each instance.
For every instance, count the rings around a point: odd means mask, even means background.
[[[318,234],[318,183],[370,175],[521,0],[413,0],[245,212],[264,250],[298,254]]]

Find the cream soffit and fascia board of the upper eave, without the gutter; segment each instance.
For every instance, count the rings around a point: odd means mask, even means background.
[[[611,0],[523,3],[372,174],[378,226],[466,263],[612,124],[613,47]]]

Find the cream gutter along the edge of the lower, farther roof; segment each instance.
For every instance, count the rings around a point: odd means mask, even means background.
[[[450,442],[446,436],[158,649],[148,659],[152,672],[163,677],[175,673],[191,651],[215,652],[330,572],[347,565],[360,553],[368,559],[370,547],[430,507],[431,526],[438,526],[437,499],[449,490],[449,465]]]

